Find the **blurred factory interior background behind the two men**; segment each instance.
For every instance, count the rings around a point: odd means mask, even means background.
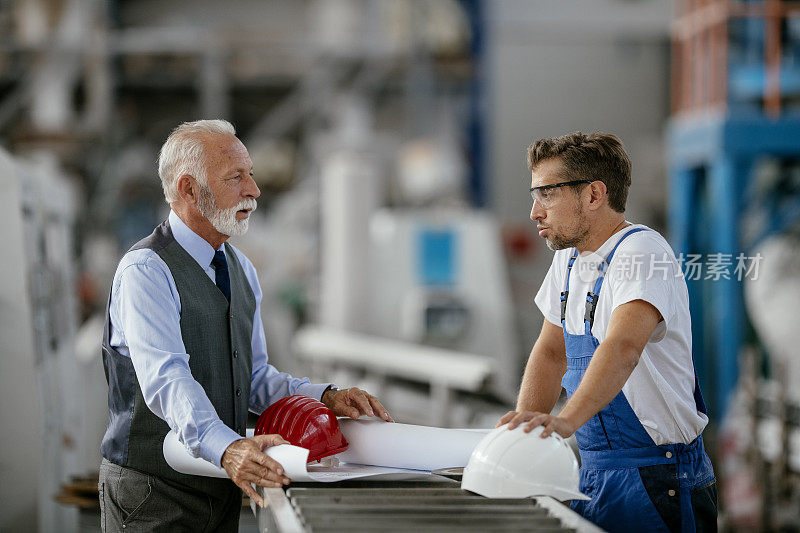
[[[718,527],[800,530],[799,3],[0,0],[0,531],[100,531],[109,291],[199,119],[252,159],[269,363],[453,429],[514,410],[542,330],[528,145],[617,135],[685,275]]]

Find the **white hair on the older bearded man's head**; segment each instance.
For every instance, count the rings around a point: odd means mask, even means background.
[[[223,134],[236,135],[236,130],[220,119],[184,122],[172,130],[158,153],[158,177],[167,203],[178,199],[178,178],[184,174],[207,185],[203,137]]]

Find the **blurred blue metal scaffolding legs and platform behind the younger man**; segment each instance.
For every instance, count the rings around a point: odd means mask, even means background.
[[[765,116],[674,119],[669,126],[670,237],[675,253],[687,258],[699,254],[740,254],[751,257],[765,237],[780,233],[798,220],[800,196],[753,205],[756,162],[763,157],[800,157],[800,118]],[[766,211],[764,216],[745,214]],[[745,239],[748,234],[755,237]],[[685,267],[686,265],[684,265]],[[686,268],[684,268],[686,272]],[[694,362],[706,390],[712,417],[724,416],[738,378],[738,359],[747,327],[742,283],[737,276],[694,279],[687,272]]]

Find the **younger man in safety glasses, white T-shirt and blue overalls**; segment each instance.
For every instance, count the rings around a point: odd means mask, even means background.
[[[575,433],[591,501],[573,509],[604,529],[716,530],[686,282],[664,238],[625,220],[622,143],[601,133],[541,139],[528,166],[530,218],[556,252],[536,295],[545,321],[516,411],[498,425]],[[552,415],[562,386],[569,399]]]

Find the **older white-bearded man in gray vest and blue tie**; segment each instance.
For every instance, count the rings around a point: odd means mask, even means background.
[[[256,271],[225,242],[247,231],[260,195],[233,126],[222,120],[181,124],[161,148],[158,172],[169,218],[120,261],[106,316],[102,525],[235,531],[241,490],[262,504],[251,483],[289,483],[263,452],[285,441],[279,435],[244,438],[248,410],[261,413],[280,398],[302,394],[340,416],[391,417],[365,391],[312,384],[268,364]],[[162,454],[170,428],[230,480],[172,470]]]

